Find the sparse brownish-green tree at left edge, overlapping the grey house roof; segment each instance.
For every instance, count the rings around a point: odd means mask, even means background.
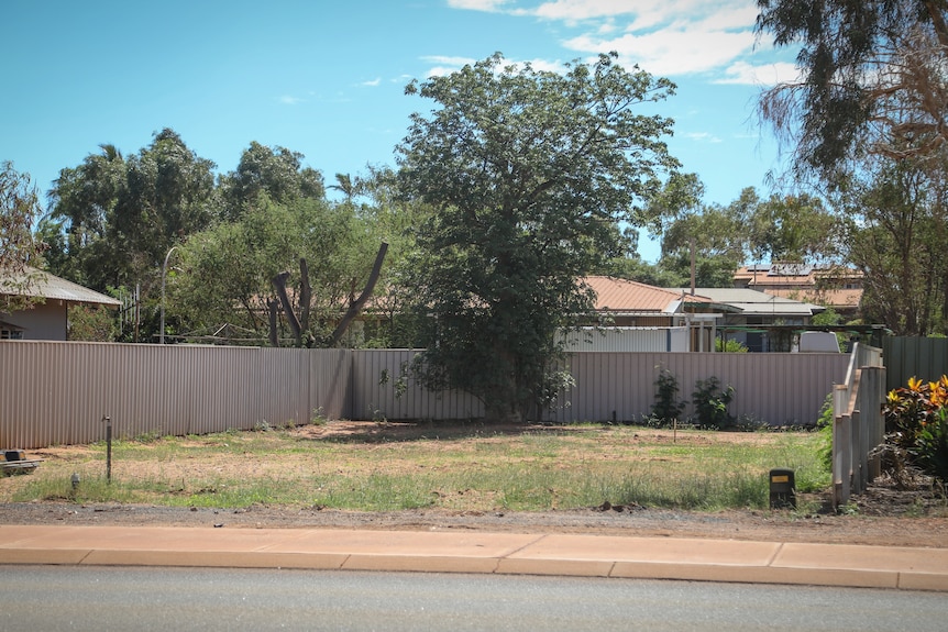
[[[0,312],[27,307],[25,292],[42,263],[43,243],[33,233],[42,209],[30,176],[0,164]]]

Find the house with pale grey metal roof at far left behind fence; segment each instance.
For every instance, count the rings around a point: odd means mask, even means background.
[[[24,285],[26,279],[29,284]],[[0,340],[68,340],[67,310],[75,304],[119,308],[121,301],[67,281],[49,273],[27,268],[9,275],[0,282],[0,296],[22,296],[36,299],[29,309],[0,311]],[[15,289],[13,289],[15,288]]]

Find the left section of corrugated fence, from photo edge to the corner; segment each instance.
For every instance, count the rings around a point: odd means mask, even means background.
[[[198,345],[0,343],[0,447],[247,430],[348,413],[351,354]]]

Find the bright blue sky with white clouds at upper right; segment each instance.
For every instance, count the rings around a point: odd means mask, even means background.
[[[661,113],[706,203],[769,192],[779,168],[757,123],[763,87],[793,52],[757,42],[753,0],[5,0],[0,160],[45,193],[99,145],[125,155],[175,130],[218,171],[252,141],[337,173],[394,165],[408,115],[432,102],[406,84],[500,52],[558,69],[616,51],[677,84]],[[654,243],[640,244],[648,260]]]

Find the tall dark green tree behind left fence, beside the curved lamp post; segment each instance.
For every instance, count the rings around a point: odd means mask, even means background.
[[[62,169],[43,226],[57,246],[52,271],[99,291],[140,289],[141,323],[131,331],[151,342],[167,253],[220,214],[213,168],[165,129],[128,158],[102,145],[79,166]],[[62,242],[54,234],[60,228]]]

